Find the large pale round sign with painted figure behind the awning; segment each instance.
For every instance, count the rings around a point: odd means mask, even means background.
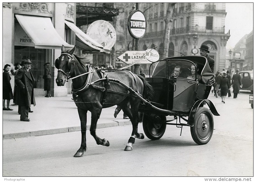
[[[100,43],[104,49],[110,50],[116,41],[116,32],[113,25],[105,20],[92,22],[86,32],[93,40]]]

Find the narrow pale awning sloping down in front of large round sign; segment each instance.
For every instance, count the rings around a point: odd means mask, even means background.
[[[87,34],[85,34],[81,29],[79,29],[75,24],[65,20],[65,24],[75,32],[76,34],[76,45],[86,51],[100,51],[105,53],[110,53],[110,50],[105,50],[102,45],[93,40]]]

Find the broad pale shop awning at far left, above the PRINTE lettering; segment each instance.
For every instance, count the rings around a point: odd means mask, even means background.
[[[15,15],[26,34],[35,43],[37,49],[61,49],[64,45],[67,49],[73,48],[63,40],[53,27],[49,17]]]

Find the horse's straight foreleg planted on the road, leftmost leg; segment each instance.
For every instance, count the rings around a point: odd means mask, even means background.
[[[74,157],[82,157],[83,152],[86,151],[86,123],[87,123],[87,110],[83,110],[80,107],[77,107],[80,123],[81,123],[81,133],[82,141],[81,146],[75,153]]]

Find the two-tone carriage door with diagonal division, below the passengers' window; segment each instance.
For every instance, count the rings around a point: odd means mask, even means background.
[[[195,102],[198,82],[177,79],[173,98],[173,111],[188,112]]]

